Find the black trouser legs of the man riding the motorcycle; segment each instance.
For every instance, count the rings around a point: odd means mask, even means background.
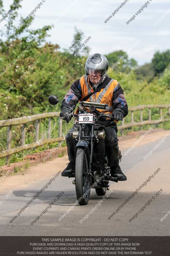
[[[72,133],[76,128],[76,124],[69,130],[65,139],[67,144],[67,153],[69,157],[69,161],[75,162],[75,153],[74,153],[74,141]],[[105,149],[107,153],[108,164],[110,167],[119,165],[119,146],[118,146],[118,138],[117,138],[117,127],[116,126],[108,126],[105,127]]]

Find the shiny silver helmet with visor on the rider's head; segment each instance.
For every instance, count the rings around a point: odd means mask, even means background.
[[[89,75],[90,72],[101,75],[100,83],[102,83],[106,77],[108,70],[108,60],[100,53],[90,55],[85,61],[85,73]]]

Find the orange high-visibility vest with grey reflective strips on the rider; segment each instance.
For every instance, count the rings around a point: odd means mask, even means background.
[[[94,93],[86,101],[104,103],[104,104],[108,103],[109,106],[106,107],[106,109],[98,109],[98,110],[102,113],[109,113],[111,115],[113,112],[112,96],[117,84],[118,84],[117,80],[111,79],[110,82],[100,90],[100,92]],[[94,90],[92,89],[92,86],[89,83],[89,76],[84,75],[80,77],[80,86],[82,90],[82,97],[79,101],[83,100],[83,98],[86,97],[91,92],[94,92]]]

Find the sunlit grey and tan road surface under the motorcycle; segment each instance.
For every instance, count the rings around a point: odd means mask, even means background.
[[[137,138],[121,138],[121,167],[127,181],[110,182],[110,190],[107,191],[110,195],[106,199],[97,196],[92,189],[89,203],[85,206],[76,204],[70,208],[76,201],[73,178],[61,177],[60,174],[53,180],[54,175],[61,172],[68,163],[67,156],[33,166],[24,175],[4,178],[0,182],[1,236],[169,236],[168,132],[150,132],[126,156],[123,154]],[[164,142],[160,142],[165,136]],[[144,159],[155,145],[159,146],[153,150],[152,155]],[[42,191],[49,180],[52,180],[51,184]],[[40,190],[42,192],[39,196],[32,200]],[[137,192],[134,194],[134,191]],[[32,202],[29,204],[30,200]],[[26,205],[26,209],[18,214]],[[42,215],[43,211],[45,213]],[[66,213],[67,211],[69,212]],[[65,216],[60,219],[64,213]],[[167,216],[161,221],[166,213]],[[38,217],[40,214],[42,216]]]

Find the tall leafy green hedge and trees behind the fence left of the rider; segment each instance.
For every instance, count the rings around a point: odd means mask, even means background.
[[[10,6],[13,11],[5,17],[6,12],[0,0],[0,13],[2,17],[4,16],[4,20],[1,19],[0,22],[4,22],[6,28],[4,33],[1,31],[3,36],[1,38],[5,39],[0,39],[1,120],[9,118],[11,113],[24,102],[26,105],[14,117],[54,111],[54,108],[48,104],[48,96],[56,94],[62,99],[72,83],[70,78],[74,76],[76,80],[82,75],[78,70],[84,68],[85,62],[84,57],[72,56],[67,63],[65,60],[70,56],[68,50],[59,52],[58,44],[42,45],[52,26],[30,30],[33,17],[23,22],[22,26],[14,26],[18,17],[17,11],[21,7],[16,3],[17,1],[14,0]],[[20,24],[22,20],[23,17]],[[76,33],[74,46],[83,37],[82,32],[77,36]],[[61,90],[65,84],[67,84],[65,90]],[[59,111],[59,108],[60,106],[56,105],[55,111]]]

